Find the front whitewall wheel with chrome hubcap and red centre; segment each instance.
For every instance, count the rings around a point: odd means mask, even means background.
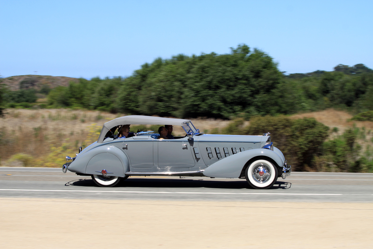
[[[252,162],[245,170],[246,180],[254,189],[272,187],[277,181],[277,175],[277,167],[264,159]]]

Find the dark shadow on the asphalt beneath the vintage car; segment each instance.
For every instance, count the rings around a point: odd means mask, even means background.
[[[65,186],[98,187],[91,179],[78,179],[66,183]],[[276,181],[269,189],[289,189],[291,183]],[[239,180],[212,180],[207,179],[154,179],[154,178],[128,178],[114,188],[207,188],[207,189],[253,189],[244,179]],[[100,188],[100,187],[98,187]]]

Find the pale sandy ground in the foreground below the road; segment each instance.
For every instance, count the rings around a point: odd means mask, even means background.
[[[1,198],[0,248],[372,248],[373,203]]]

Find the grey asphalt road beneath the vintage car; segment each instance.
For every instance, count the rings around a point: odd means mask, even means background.
[[[245,179],[134,176],[102,188],[61,168],[0,167],[0,197],[372,203],[373,174],[292,172],[266,190]]]

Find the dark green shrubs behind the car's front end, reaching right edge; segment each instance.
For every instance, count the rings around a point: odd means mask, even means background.
[[[245,126],[233,120],[219,134],[262,135],[270,132],[271,141],[284,154],[293,171],[373,172],[373,148],[362,153],[357,139],[365,130],[357,127],[333,135],[326,125],[313,118],[290,119],[286,116],[256,116]]]

